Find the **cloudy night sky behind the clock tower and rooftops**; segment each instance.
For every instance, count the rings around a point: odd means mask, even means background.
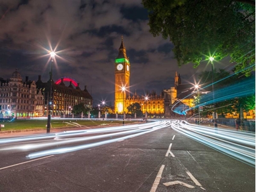
[[[176,71],[182,83],[194,84],[201,71],[211,69],[207,62],[197,69],[191,63],[179,68],[174,45],[149,33],[148,12],[136,0],[1,0],[0,29],[0,77],[9,79],[17,68],[23,80],[29,76],[37,81],[41,75],[46,82],[52,46],[57,52],[53,79],[71,77],[82,90],[87,85],[94,105],[114,105],[114,62],[121,35],[130,59],[132,94],[160,94],[174,87]]]

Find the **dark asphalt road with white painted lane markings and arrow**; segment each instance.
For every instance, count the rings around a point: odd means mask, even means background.
[[[116,137],[107,137],[113,138]],[[43,150],[105,139],[55,144]],[[49,141],[52,138],[36,143]],[[19,150],[18,146],[23,144],[33,145],[35,141],[0,144],[1,192],[255,191],[253,166],[191,140],[171,127],[93,148],[32,159],[26,156],[42,149]],[[3,150],[6,148],[13,149]]]

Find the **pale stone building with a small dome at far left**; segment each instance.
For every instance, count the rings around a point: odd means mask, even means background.
[[[10,79],[0,78],[0,113],[4,118],[27,118],[43,115],[43,94],[35,81],[23,81],[16,69]]]

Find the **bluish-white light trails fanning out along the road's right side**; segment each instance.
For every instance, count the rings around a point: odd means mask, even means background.
[[[177,120],[172,122],[171,127],[193,140],[255,167],[254,133],[192,126],[186,121]]]

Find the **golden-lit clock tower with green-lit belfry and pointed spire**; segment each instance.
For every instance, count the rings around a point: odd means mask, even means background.
[[[126,111],[126,94],[130,87],[130,62],[126,56],[123,35],[119,48],[118,57],[115,59],[115,112],[124,113]],[[122,88],[125,90],[123,91]]]

